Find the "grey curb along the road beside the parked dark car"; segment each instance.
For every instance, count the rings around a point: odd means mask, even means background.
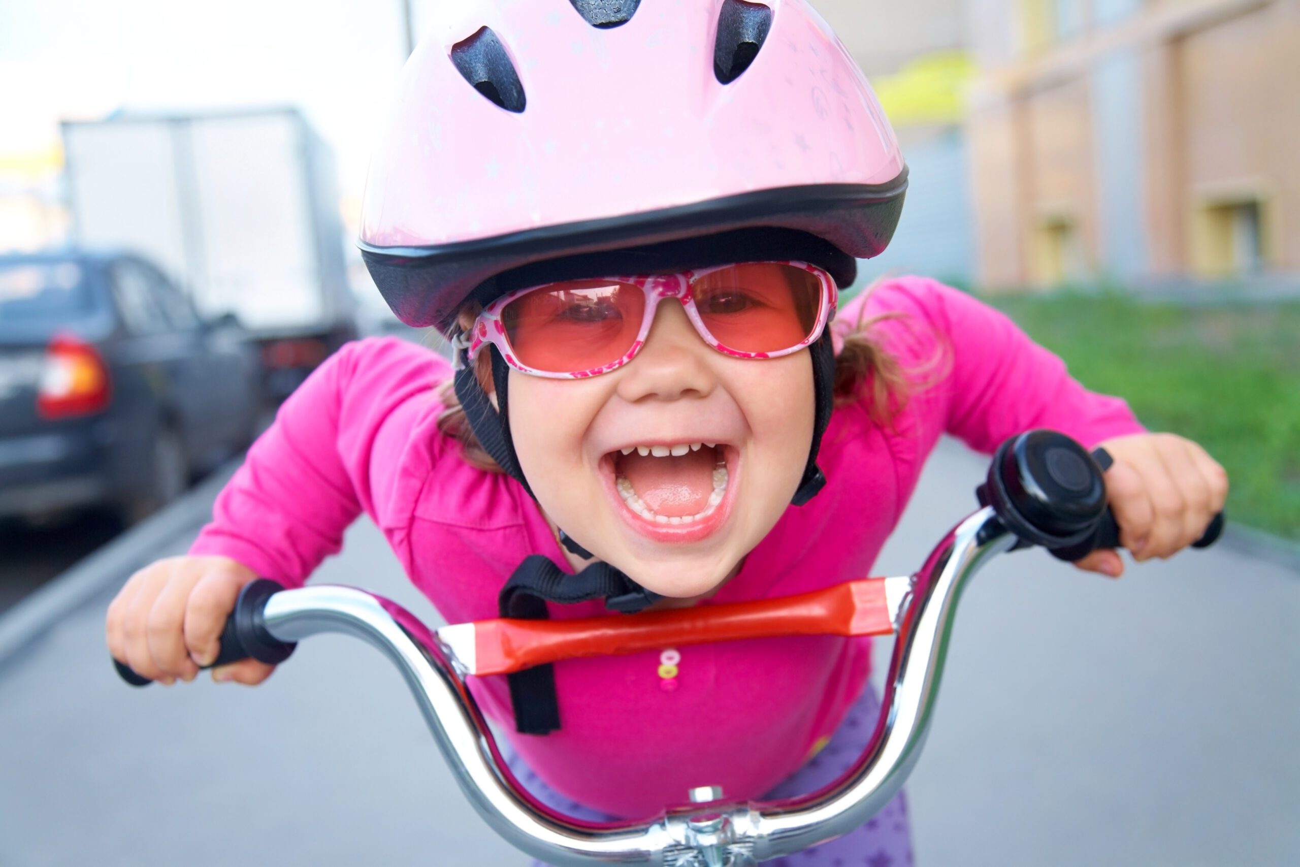
[[[212,515],[212,500],[242,463],[243,455],[226,461],[170,506],[51,578],[0,615],[0,667],[107,588],[125,581],[159,547],[207,523]]]

